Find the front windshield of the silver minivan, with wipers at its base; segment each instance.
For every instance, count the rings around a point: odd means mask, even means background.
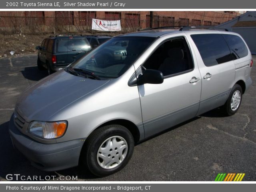
[[[100,78],[118,78],[152,44],[150,37],[115,37],[69,67],[90,72]],[[68,71],[68,70],[67,70]]]

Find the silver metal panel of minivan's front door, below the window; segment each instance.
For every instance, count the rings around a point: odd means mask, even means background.
[[[138,86],[145,138],[196,116],[201,94],[198,68],[165,78],[162,84]]]

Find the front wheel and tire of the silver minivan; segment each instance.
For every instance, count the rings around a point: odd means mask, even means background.
[[[108,176],[126,166],[133,149],[134,138],[127,128],[120,125],[103,126],[86,139],[82,163],[92,174]]]

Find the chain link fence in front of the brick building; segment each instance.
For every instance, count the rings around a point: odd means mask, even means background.
[[[78,15],[78,16],[77,16]],[[38,34],[38,33],[95,33],[92,30],[92,18],[96,18],[96,13],[82,12],[55,12],[54,17],[34,16],[28,14],[25,16],[0,16],[0,33],[2,34]],[[140,14],[125,13],[125,18],[119,14],[105,14],[102,20],[121,20],[122,30],[112,33],[134,32],[150,27],[150,16],[141,19]],[[188,18],[174,18],[168,16],[154,15],[152,27],[164,26],[200,26],[200,25],[217,25],[220,22],[189,20]],[[98,33],[98,31],[97,31]]]

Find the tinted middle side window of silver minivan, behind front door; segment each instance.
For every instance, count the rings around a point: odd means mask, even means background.
[[[195,34],[196,44],[205,66],[214,66],[233,60],[228,44],[222,34]]]

